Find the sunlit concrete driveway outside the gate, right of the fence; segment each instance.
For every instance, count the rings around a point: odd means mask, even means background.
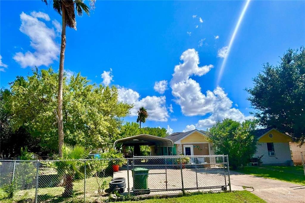
[[[252,192],[267,202],[305,203],[305,186],[282,182],[273,179],[230,172],[232,190],[246,190]]]

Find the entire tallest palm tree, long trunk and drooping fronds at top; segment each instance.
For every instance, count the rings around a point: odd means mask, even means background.
[[[93,8],[95,0],[89,0]],[[48,0],[43,0],[48,5]],[[89,15],[90,9],[83,0],[53,0],[53,8],[62,17],[61,45],[59,57],[59,78],[57,95],[57,125],[58,125],[58,156],[62,156],[63,146],[63,64],[66,50],[66,26],[76,30],[75,10],[78,16],[83,15],[83,11]]]

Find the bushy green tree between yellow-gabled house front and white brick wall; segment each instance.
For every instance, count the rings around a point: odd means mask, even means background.
[[[251,135],[256,121],[242,123],[232,119],[217,122],[209,129],[209,139],[216,147],[217,154],[228,154],[229,164],[233,169],[245,166],[256,152],[257,140]]]

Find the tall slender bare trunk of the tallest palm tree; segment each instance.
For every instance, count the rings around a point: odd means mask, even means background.
[[[58,156],[62,156],[63,147],[63,63],[66,50],[66,10],[62,6],[62,31],[59,58],[58,96],[57,96],[57,119],[58,119]]]

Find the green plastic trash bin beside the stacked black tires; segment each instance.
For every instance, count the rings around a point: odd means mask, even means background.
[[[134,168],[131,169],[133,177],[133,190],[134,194],[149,194],[148,188],[148,172],[147,168]],[[144,191],[141,191],[144,190]]]

